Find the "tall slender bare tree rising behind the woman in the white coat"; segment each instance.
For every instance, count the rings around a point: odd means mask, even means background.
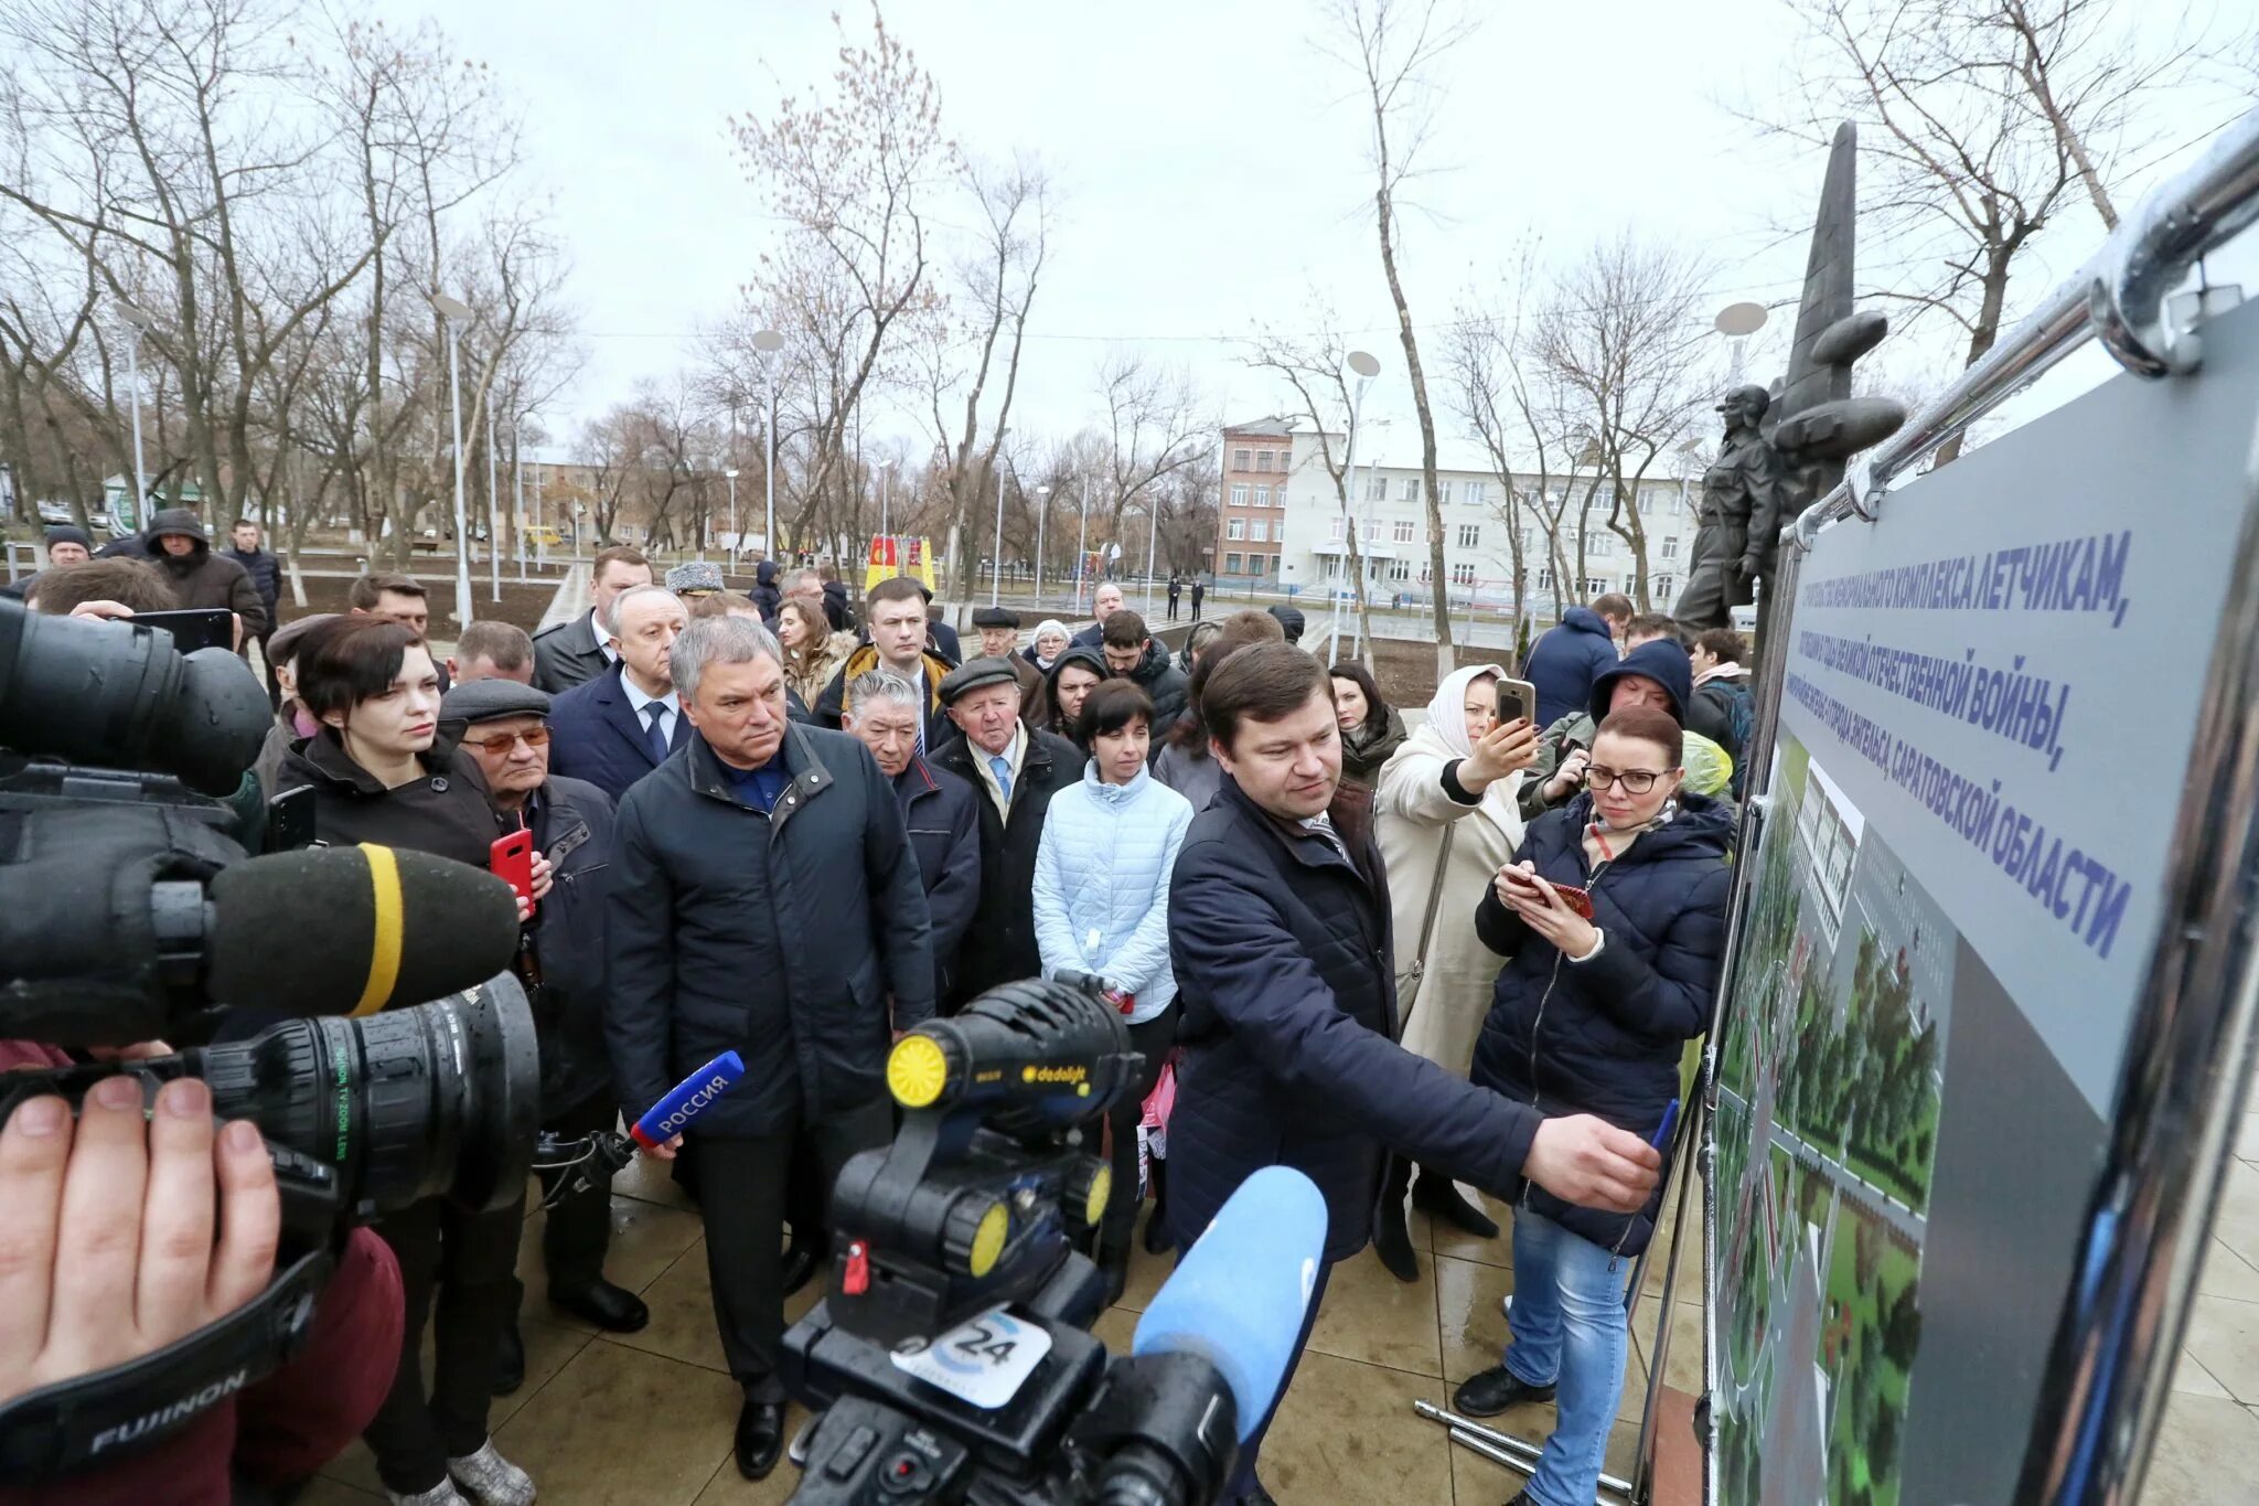
[[[1441,56],[1473,32],[1446,0],[1333,0],[1335,56],[1355,77],[1371,111],[1373,224],[1380,233],[1380,271],[1396,303],[1396,332],[1405,348],[1412,409],[1419,413],[1421,492],[1428,501],[1428,578],[1434,583],[1437,675],[1457,668],[1450,646],[1450,576],[1444,567],[1444,504],[1437,488],[1434,411],[1428,404],[1428,373],[1419,357],[1412,303],[1396,264],[1398,208],[1412,165],[1432,124],[1430,72]]]

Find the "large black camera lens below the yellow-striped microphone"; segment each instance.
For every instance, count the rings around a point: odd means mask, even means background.
[[[441,1194],[479,1210],[524,1199],[540,1050],[508,975],[359,1021],[285,1021],[199,1057],[212,1111],[334,1165],[355,1219]]]

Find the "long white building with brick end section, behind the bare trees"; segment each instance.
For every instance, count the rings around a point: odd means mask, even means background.
[[[1349,531],[1376,603],[1403,598],[1428,603],[1428,508],[1421,494],[1419,434],[1412,424],[1380,429],[1376,443],[1360,436],[1358,470],[1351,479],[1351,515],[1344,517],[1333,479],[1326,474],[1317,434],[1308,424],[1258,420],[1224,429],[1224,506],[1218,508],[1213,571],[1229,589],[1249,578],[1272,589],[1294,589],[1324,598],[1349,587]],[[1342,436],[1328,436],[1335,458]],[[1247,452],[1240,456],[1238,452]],[[1267,452],[1267,454],[1265,454]],[[1258,461],[1270,461],[1256,470]],[[1256,488],[1265,492],[1256,506]],[[1615,501],[1602,483],[1584,508],[1590,476],[1550,476],[1552,499],[1541,506],[1532,467],[1514,476],[1518,506],[1491,470],[1489,456],[1471,445],[1441,445],[1437,454],[1437,501],[1444,513],[1446,589],[1457,605],[1514,610],[1514,542],[1509,517],[1518,517],[1527,567],[1527,601],[1534,616],[1552,619],[1554,605],[1575,605],[1606,592],[1633,594],[1633,555],[1622,533],[1608,526]],[[1240,497],[1245,492],[1245,497]],[[1633,506],[1647,540],[1647,598],[1667,610],[1685,578],[1694,546],[1699,472],[1654,476],[1640,485]],[[1577,571],[1577,540],[1584,537],[1584,578],[1554,580],[1545,537],[1545,515],[1561,508],[1561,553],[1568,576]],[[1586,513],[1586,517],[1579,517]],[[1626,517],[1629,531],[1629,517]]]

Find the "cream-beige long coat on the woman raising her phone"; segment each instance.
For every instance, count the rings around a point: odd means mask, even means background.
[[[1380,765],[1373,808],[1396,910],[1396,1009],[1405,1016],[1403,1043],[1464,1075],[1502,966],[1498,953],[1475,937],[1475,905],[1523,844],[1523,820],[1514,806],[1523,774],[1491,786],[1482,804],[1462,806],[1444,793],[1444,765],[1457,756],[1462,754],[1434,732],[1430,716]],[[1441,865],[1444,896],[1421,948],[1446,831],[1453,831],[1453,840]]]

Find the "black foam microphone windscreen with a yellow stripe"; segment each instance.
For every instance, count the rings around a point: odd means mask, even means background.
[[[309,847],[212,878],[206,987],[282,1014],[375,1014],[470,989],[517,955],[492,874],[395,847]]]

